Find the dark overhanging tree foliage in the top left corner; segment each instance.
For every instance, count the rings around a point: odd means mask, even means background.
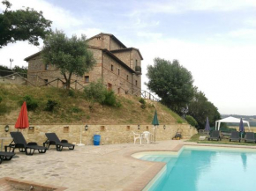
[[[0,14],[0,48],[17,40],[28,40],[38,46],[39,38],[44,39],[51,32],[51,21],[42,16],[42,11],[26,8],[10,11],[11,3],[3,1],[6,9]]]

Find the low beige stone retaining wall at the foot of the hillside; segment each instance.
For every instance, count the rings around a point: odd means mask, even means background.
[[[17,131],[14,129],[14,124],[9,125],[10,132]],[[0,137],[10,137],[10,133],[5,133],[5,125],[0,125]],[[197,130],[188,124],[170,124],[159,126],[155,129],[156,141],[170,140],[177,133],[177,129],[182,130],[182,138],[190,138],[197,134]],[[81,130],[81,131],[80,131]],[[46,141],[45,133],[56,133],[60,139],[67,139],[70,143],[80,142],[80,132],[82,135],[82,143],[86,145],[93,144],[94,135],[101,135],[101,144],[115,144],[115,143],[132,143],[133,133],[142,133],[149,131],[154,135],[154,126],[140,125],[88,125],[88,130],[85,130],[85,124],[81,125],[39,125],[30,124],[29,129],[20,130],[26,138],[26,142],[37,142],[42,144]],[[137,140],[138,141],[138,140]],[[4,141],[4,145],[11,143],[11,140]],[[139,143],[139,142],[137,142]]]

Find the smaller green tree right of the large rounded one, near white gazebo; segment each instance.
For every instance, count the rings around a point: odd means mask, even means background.
[[[199,124],[199,129],[205,129],[207,117],[209,119],[210,126],[215,126],[215,121],[221,119],[221,114],[218,112],[218,108],[213,103],[208,101],[203,92],[200,92],[195,88],[194,97],[191,103],[188,105],[188,113]]]

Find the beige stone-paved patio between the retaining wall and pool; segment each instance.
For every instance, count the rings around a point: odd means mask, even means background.
[[[142,145],[88,145],[77,146],[74,151],[50,149],[45,154],[35,153],[34,156],[18,152],[19,158],[0,165],[0,178],[68,187],[68,191],[140,190],[164,164],[141,161],[132,158],[131,154],[137,151],[173,151],[184,144],[197,143],[169,140]]]

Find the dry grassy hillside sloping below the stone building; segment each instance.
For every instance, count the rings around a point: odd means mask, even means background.
[[[96,103],[94,110],[90,111],[83,92],[70,93],[51,87],[0,84],[0,123],[15,123],[25,96],[30,96],[38,104],[34,111],[28,112],[29,121],[34,124],[151,124],[154,107],[157,108],[161,124],[184,122],[180,116],[160,103],[147,100],[147,108],[141,108],[137,97],[117,96],[121,107],[107,107]],[[53,112],[45,111],[49,99],[57,102]]]

